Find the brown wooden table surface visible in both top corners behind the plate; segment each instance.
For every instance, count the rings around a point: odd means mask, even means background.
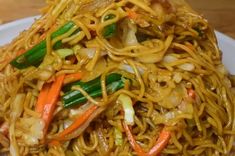
[[[0,22],[38,15],[45,0],[0,0]],[[235,39],[235,0],[188,0],[211,25]]]

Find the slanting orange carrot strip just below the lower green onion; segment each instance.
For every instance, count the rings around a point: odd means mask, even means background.
[[[80,126],[82,126],[88,118],[95,112],[95,110],[98,108],[98,106],[94,105],[91,108],[89,108],[87,111],[85,111],[81,116],[79,116],[68,128],[66,128],[64,131],[58,134],[58,140],[64,140],[64,137],[72,132],[74,132],[76,129],[78,129]]]

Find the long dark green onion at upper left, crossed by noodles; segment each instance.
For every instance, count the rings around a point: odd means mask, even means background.
[[[65,34],[74,26],[75,24],[72,21],[66,23],[64,26],[59,28],[54,33],[52,33],[51,38],[54,39],[58,36]],[[55,49],[60,47],[60,45],[61,41],[56,42]],[[11,61],[11,65],[18,69],[24,69],[29,66],[37,66],[43,60],[45,55],[46,55],[46,40],[43,40],[39,44],[34,46],[32,49],[28,50],[27,52],[13,59]]]

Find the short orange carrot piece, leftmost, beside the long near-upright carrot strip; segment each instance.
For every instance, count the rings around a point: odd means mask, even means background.
[[[38,101],[36,104],[35,111],[42,114],[46,100],[47,100],[47,95],[50,89],[50,84],[46,83],[43,85],[42,90],[38,96]]]

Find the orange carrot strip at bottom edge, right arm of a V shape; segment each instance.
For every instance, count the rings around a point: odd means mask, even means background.
[[[170,131],[163,129],[159,135],[156,144],[148,152],[148,156],[159,155],[162,152],[162,150],[167,146],[170,138],[171,138]]]

